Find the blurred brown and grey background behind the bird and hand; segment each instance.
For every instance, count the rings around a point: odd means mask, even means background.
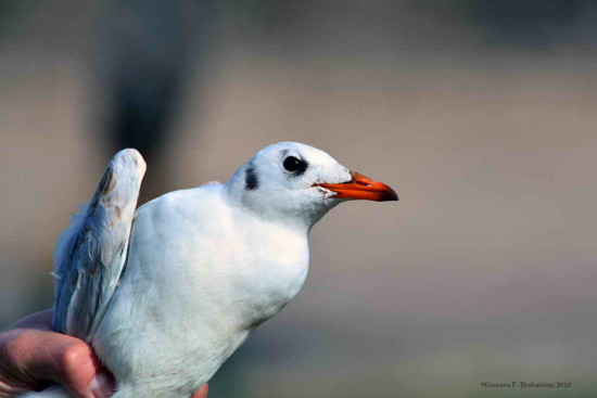
[[[211,397],[595,396],[595,2],[1,0],[0,92],[1,328],[118,149],[145,202],[292,140],[401,202],[315,228]]]

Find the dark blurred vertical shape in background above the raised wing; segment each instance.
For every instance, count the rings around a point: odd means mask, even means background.
[[[151,164],[191,66],[201,63],[213,42],[214,5],[213,0],[110,3],[102,57],[107,57],[106,129],[114,151],[136,147]]]

